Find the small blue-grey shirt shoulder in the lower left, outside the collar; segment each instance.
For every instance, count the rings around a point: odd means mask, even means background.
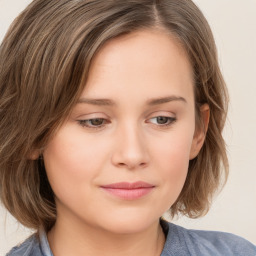
[[[38,237],[36,235],[30,236],[22,244],[13,247],[6,256],[43,256]]]

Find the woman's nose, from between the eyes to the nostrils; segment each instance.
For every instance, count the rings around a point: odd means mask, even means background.
[[[147,141],[137,125],[120,128],[115,138],[112,163],[119,168],[135,170],[149,163]]]

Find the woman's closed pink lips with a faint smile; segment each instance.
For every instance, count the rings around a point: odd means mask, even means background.
[[[101,186],[106,192],[125,200],[136,200],[150,193],[155,186],[143,181],[120,182]]]

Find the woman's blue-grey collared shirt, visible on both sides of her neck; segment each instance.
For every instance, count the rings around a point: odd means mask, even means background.
[[[256,256],[256,246],[224,232],[189,230],[161,220],[166,242],[161,256]],[[53,256],[45,232],[29,237],[6,256]]]

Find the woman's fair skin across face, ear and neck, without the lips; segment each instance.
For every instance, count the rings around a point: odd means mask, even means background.
[[[192,77],[185,51],[163,31],[101,48],[79,102],[43,152],[56,195],[48,234],[55,256],[161,254],[159,217],[180,194],[205,136],[195,125]],[[208,106],[201,115],[207,127]],[[124,200],[100,187],[124,181],[154,188]]]

